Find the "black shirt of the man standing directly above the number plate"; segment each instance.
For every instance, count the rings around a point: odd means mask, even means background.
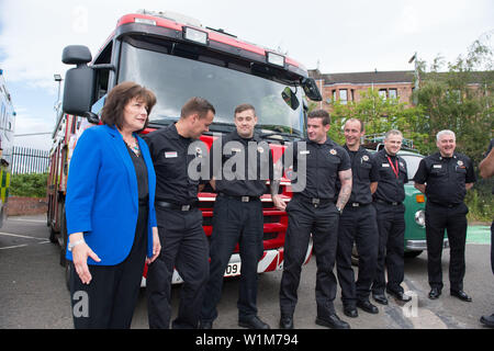
[[[243,138],[237,131],[216,139],[210,152],[210,169],[216,192],[232,196],[261,196],[273,179],[272,155],[256,134]]]

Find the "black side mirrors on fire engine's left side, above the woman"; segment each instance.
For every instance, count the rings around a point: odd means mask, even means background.
[[[61,109],[68,114],[88,116],[91,112],[96,81],[94,70],[87,65],[91,59],[91,53],[86,46],[70,45],[64,48],[61,61],[77,65],[65,75]]]

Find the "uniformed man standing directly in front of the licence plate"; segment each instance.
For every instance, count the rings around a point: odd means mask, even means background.
[[[234,122],[236,129],[216,139],[210,152],[211,185],[217,195],[213,212],[210,280],[201,310],[201,327],[211,329],[217,317],[223,275],[238,244],[242,260],[238,325],[269,329],[257,315],[257,264],[263,252],[260,196],[267,191],[266,181],[272,180],[272,156],[268,143],[254,132],[257,116],[252,105],[238,105]],[[274,197],[273,201],[280,201],[278,194]]]

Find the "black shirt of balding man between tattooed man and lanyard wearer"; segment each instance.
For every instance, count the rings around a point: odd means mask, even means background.
[[[344,149],[348,152],[351,162],[351,195],[348,203],[370,204],[372,202],[372,193],[370,183],[379,181],[379,168],[372,154],[363,147],[357,151],[350,151],[346,145]],[[339,179],[337,186],[340,188]]]

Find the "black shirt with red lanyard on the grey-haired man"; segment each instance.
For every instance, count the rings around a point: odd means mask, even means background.
[[[373,155],[373,161],[379,169],[380,178],[373,199],[388,203],[403,203],[405,200],[404,185],[408,182],[405,160],[400,156],[388,155],[383,148]]]

